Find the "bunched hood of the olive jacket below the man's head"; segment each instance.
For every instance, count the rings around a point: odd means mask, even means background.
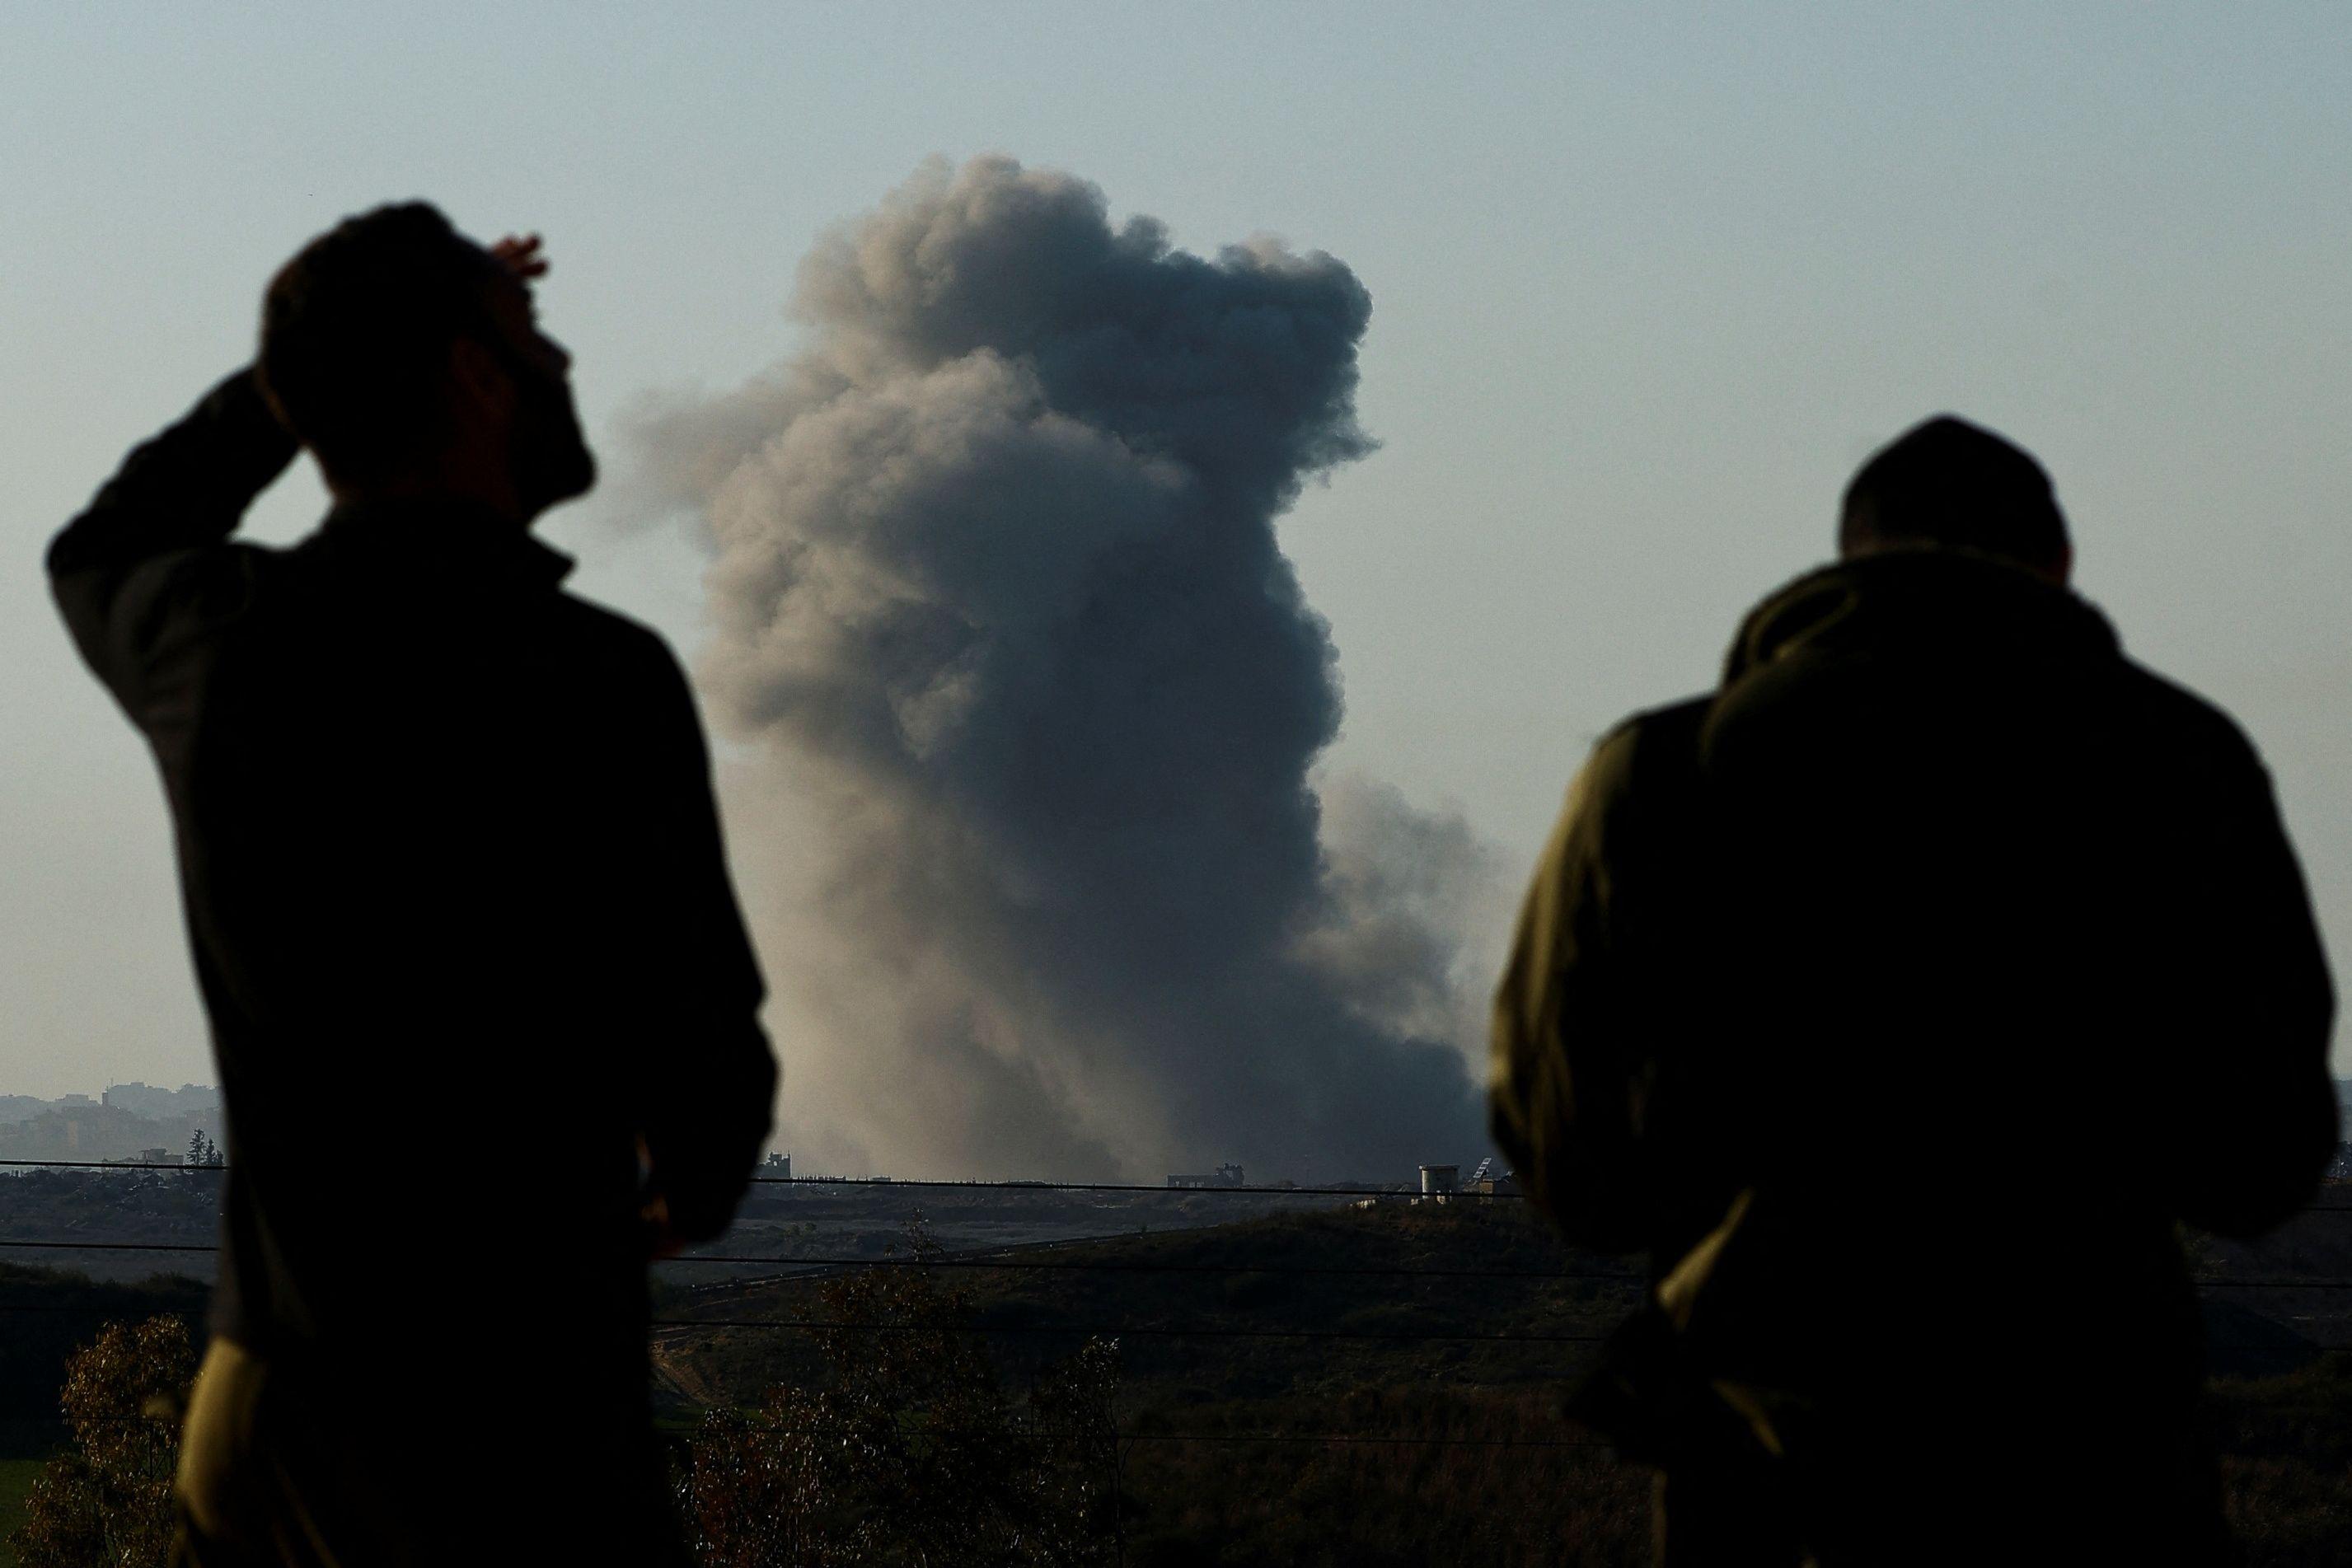
[[[2082,595],[1971,550],[1877,550],[1809,571],[1748,611],[1724,686],[1792,654],[1915,654],[2086,663],[2117,658]]]

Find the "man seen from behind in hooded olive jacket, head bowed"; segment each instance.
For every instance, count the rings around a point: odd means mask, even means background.
[[[1665,1563],[2220,1561],[2176,1222],[2336,1138],[2270,780],[2002,437],[1886,447],[1839,555],[1599,741],[1522,914],[1496,1138],[1661,1281],[1573,1408]]]

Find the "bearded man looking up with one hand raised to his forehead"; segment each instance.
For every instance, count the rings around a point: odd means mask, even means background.
[[[536,244],[318,237],[49,548],[162,766],[228,1100],[186,1563],[680,1549],[644,1265],[727,1225],[774,1058],[677,663],[529,536],[595,477]],[[296,442],[327,522],[230,541]]]

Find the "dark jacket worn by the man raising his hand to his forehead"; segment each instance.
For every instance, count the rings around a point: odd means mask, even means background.
[[[367,1389],[353,1425],[642,1429],[640,1147],[710,1237],[776,1081],[691,696],[489,515],[233,543],[292,456],[230,376],[49,548],[172,804],[230,1124],[216,1328]]]

